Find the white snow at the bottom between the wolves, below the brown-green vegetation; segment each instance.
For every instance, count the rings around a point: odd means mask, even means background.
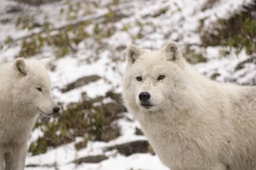
[[[131,113],[122,113],[129,119],[134,120],[134,117]],[[58,147],[54,150],[49,150],[45,154],[40,154],[37,156],[29,156],[26,158],[26,165],[28,164],[35,164],[35,165],[52,165],[56,164],[61,170],[70,170],[68,168],[74,168],[74,164],[70,163],[75,159],[81,158],[83,156],[96,156],[104,153],[104,148],[113,146],[116,144],[122,144],[125,142],[132,142],[137,140],[146,140],[145,136],[138,136],[134,135],[135,127],[140,127],[138,122],[131,122],[125,119],[117,120],[118,125],[121,127],[121,136],[118,138],[110,141],[110,142],[91,142],[87,143],[87,147],[76,151],[74,144],[79,142],[79,138],[76,142],[71,142],[69,144],[63,145]],[[35,133],[35,131],[34,131]],[[130,168],[143,168],[148,170],[155,170],[156,167],[164,167],[160,161],[158,160],[157,156],[152,156],[149,153],[141,153],[141,154],[133,154],[131,156],[125,157],[121,154],[113,154],[114,152],[108,152],[106,155],[110,156],[109,159],[100,162],[99,164],[86,164],[83,163],[79,166],[79,169],[85,170],[107,170],[108,168],[116,170],[129,170]],[[146,167],[143,167],[143,162],[148,160],[152,160],[152,165],[147,164]],[[119,162],[116,167],[113,166],[113,162]],[[112,167],[111,167],[112,166]],[[93,168],[93,169],[92,169]],[[35,167],[32,168],[37,169]],[[31,167],[25,168],[25,170],[31,170]],[[38,169],[39,170],[39,169]],[[49,170],[48,167],[40,167],[40,170]],[[163,168],[163,170],[165,170]],[[166,169],[167,170],[167,169]]]

